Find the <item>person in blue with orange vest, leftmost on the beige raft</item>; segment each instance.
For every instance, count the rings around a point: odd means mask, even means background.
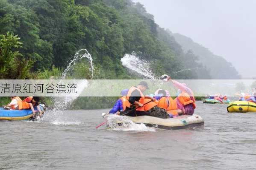
[[[126,109],[124,103],[127,100],[126,96],[128,94],[128,91],[129,91],[129,89],[124,89],[124,90],[121,91],[122,97],[115,102],[115,105],[109,111],[109,114],[118,114],[118,115],[120,115],[120,112],[123,112]]]

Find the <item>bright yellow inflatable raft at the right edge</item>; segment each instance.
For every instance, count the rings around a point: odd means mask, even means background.
[[[231,102],[227,107],[228,112],[256,112],[256,103],[247,101]]]

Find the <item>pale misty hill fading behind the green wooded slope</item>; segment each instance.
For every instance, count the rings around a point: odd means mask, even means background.
[[[199,62],[209,70],[212,79],[240,79],[232,63],[223,57],[213,54],[208,48],[194,42],[189,37],[182,34],[173,34],[171,31],[168,32],[182,45],[184,51],[192,50],[197,55]]]

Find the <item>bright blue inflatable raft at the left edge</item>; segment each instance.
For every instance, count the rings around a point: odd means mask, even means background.
[[[41,104],[39,106],[41,108],[41,111],[44,112],[44,106]],[[6,110],[4,108],[0,108],[0,120],[24,120],[24,119],[37,120],[33,116],[31,109]]]

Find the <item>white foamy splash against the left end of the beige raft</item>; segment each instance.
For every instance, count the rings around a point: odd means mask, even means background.
[[[132,122],[129,118],[125,116],[118,116],[115,114],[110,114],[106,117],[107,126],[109,130],[116,131],[146,131],[146,132],[155,132],[154,127],[147,127],[143,123],[136,124]],[[122,124],[120,125],[120,122]]]

